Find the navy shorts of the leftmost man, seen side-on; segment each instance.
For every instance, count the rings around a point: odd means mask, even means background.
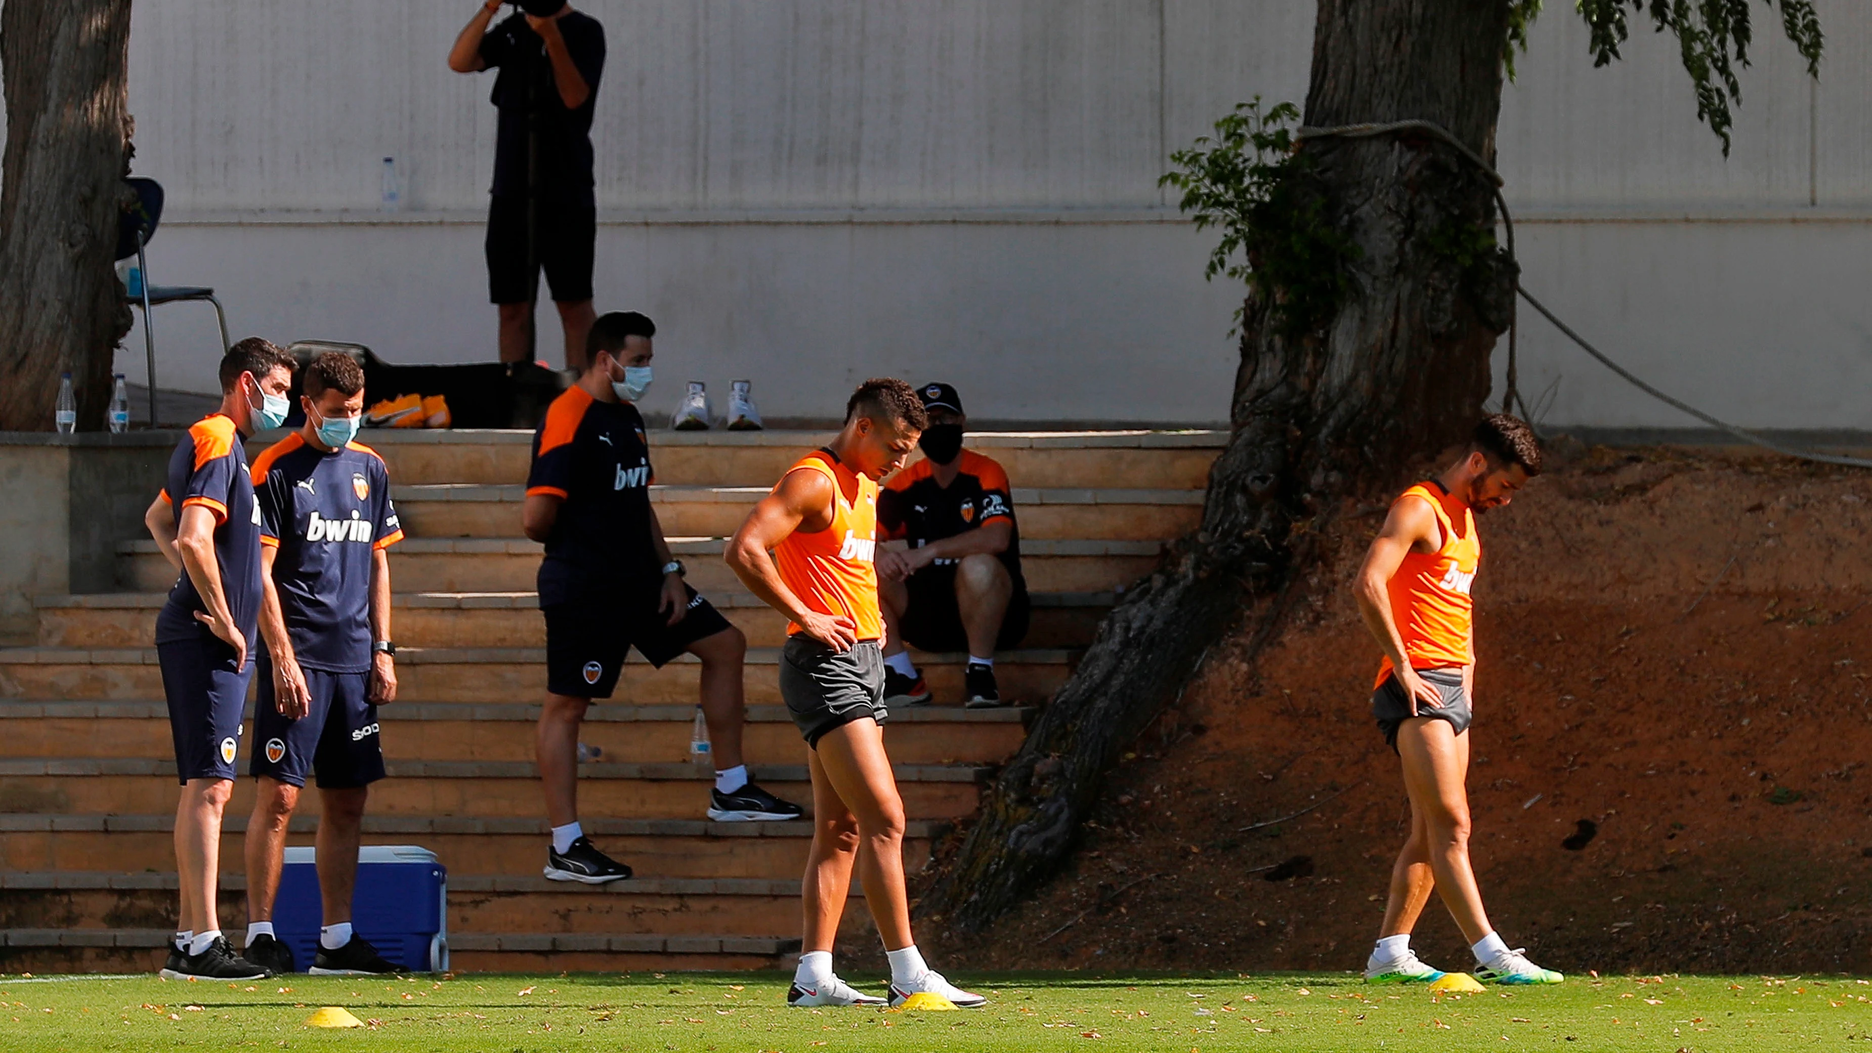
[[[200,639],[155,645],[168,699],[168,731],[176,738],[176,781],[234,779],[241,710],[253,661],[234,667],[234,648],[208,630]]]

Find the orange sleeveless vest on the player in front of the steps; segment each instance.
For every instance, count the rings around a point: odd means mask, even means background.
[[[794,530],[773,547],[781,581],[801,603],[822,615],[844,615],[857,626],[857,639],[884,637],[878,613],[878,483],[844,465],[827,450],[814,450],[786,468],[812,470],[831,480],[831,526],[807,534]],[[784,482],[786,476],[781,476]],[[779,489],[775,483],[773,489]],[[786,633],[797,633],[788,624]]]

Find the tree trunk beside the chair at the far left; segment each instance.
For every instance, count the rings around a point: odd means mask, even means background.
[[[129,0],[0,7],[0,431],[51,431],[69,371],[79,429],[103,427],[129,332],[112,272],[129,159]]]

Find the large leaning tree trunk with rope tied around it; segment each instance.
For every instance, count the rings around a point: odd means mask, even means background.
[[[1430,120],[1492,161],[1505,34],[1503,0],[1320,0],[1307,126]],[[1202,530],[1099,628],[919,914],[979,931],[1050,877],[1104,772],[1209,646],[1239,635],[1252,658],[1322,558],[1331,519],[1473,427],[1514,275],[1498,253],[1464,260],[1449,244],[1492,236],[1488,178],[1430,137],[1309,139],[1305,152],[1327,223],[1361,249],[1352,290],[1294,339],[1249,296]],[[1368,658],[1376,667],[1376,648]]]

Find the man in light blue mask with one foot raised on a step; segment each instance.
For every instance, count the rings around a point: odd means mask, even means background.
[[[608,699],[636,646],[651,665],[702,660],[702,714],[715,759],[709,819],[797,819],[799,806],[756,787],[741,761],[741,661],[747,637],[683,581],[650,504],[650,446],[636,399],[650,388],[657,326],[636,311],[592,324],[586,369],[547,408],[534,435],[522,526],[547,545],[539,607],[547,616],[547,704],[535,751],[552,823],[545,873],[605,884],[631,877],[578,823],[578,727]]]

